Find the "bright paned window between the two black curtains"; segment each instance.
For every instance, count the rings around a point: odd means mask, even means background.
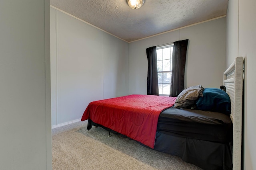
[[[169,96],[173,44],[156,47],[159,95]]]

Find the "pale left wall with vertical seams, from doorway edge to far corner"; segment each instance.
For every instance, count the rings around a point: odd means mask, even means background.
[[[51,23],[52,125],[81,119],[94,100],[129,93],[128,43],[53,8]]]

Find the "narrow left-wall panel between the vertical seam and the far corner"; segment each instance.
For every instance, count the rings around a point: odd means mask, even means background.
[[[129,94],[129,44],[103,34],[103,98]]]

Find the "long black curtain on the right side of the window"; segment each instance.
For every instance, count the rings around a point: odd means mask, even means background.
[[[188,39],[176,41],[172,52],[172,78],[170,96],[177,97],[184,88],[184,73]]]

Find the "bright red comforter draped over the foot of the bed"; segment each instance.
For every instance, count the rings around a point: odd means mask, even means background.
[[[154,148],[158,117],[174,105],[176,97],[129,95],[91,102],[81,121],[91,119]]]

